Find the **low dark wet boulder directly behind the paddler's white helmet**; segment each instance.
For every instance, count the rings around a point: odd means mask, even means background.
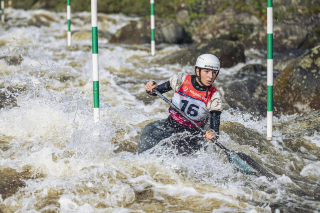
[[[245,62],[241,44],[228,40],[213,40],[185,46],[182,50],[160,59],[157,63],[195,65],[198,56],[205,53],[217,56],[221,67],[232,67]]]

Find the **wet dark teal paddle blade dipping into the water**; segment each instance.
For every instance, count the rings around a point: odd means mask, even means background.
[[[230,151],[228,154],[229,161],[238,169],[246,174],[255,174],[258,177],[266,176],[270,182],[277,178],[271,174],[267,169],[257,163],[254,159],[242,152]]]

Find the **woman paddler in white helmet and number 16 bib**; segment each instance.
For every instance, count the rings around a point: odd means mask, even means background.
[[[150,149],[162,139],[177,133],[188,132],[187,136],[172,141],[172,145],[178,150],[178,153],[190,154],[206,144],[205,139],[216,138],[219,135],[222,101],[219,91],[212,83],[218,76],[219,70],[219,59],[214,55],[204,54],[197,59],[196,75],[179,72],[178,75],[174,75],[169,81],[158,86],[149,81],[144,87],[149,95],[156,96],[152,89],[157,89],[160,93],[174,90],[172,103],[201,127],[204,127],[210,118],[211,130],[208,130],[205,135],[201,135],[193,124],[170,107],[170,115],[166,121],[156,121],[145,126],[136,153],[139,154]]]

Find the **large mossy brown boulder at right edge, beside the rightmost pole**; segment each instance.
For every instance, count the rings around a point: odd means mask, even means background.
[[[281,71],[273,85],[276,114],[320,109],[320,46],[314,47]]]

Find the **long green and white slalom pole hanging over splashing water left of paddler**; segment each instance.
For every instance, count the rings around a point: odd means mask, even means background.
[[[91,0],[92,26],[92,71],[93,71],[93,116],[99,122],[99,65],[98,65],[98,15],[97,0]]]

